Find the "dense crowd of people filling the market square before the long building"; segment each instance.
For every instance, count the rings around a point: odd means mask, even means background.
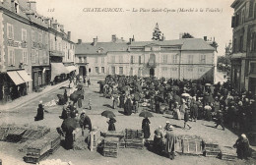
[[[169,111],[177,120],[181,120],[183,113],[184,128],[190,128],[188,121],[214,120],[216,128],[221,125],[223,130],[228,127],[249,132],[256,116],[252,92],[238,92],[229,81],[211,84],[206,80],[192,82],[115,75],[98,83],[99,92],[113,100],[112,108],[124,108],[125,115],[137,113],[139,106],[148,106],[156,113]]]

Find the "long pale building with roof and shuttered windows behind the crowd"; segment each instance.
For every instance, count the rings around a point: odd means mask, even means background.
[[[214,82],[215,48],[199,38],[129,42],[79,42],[80,75],[126,75]]]

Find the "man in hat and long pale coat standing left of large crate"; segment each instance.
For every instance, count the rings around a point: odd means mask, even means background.
[[[168,157],[173,160],[175,156],[175,143],[177,142],[177,138],[173,132],[173,126],[169,125],[167,128],[167,132],[165,135],[166,142],[165,142],[165,151],[168,154]]]

